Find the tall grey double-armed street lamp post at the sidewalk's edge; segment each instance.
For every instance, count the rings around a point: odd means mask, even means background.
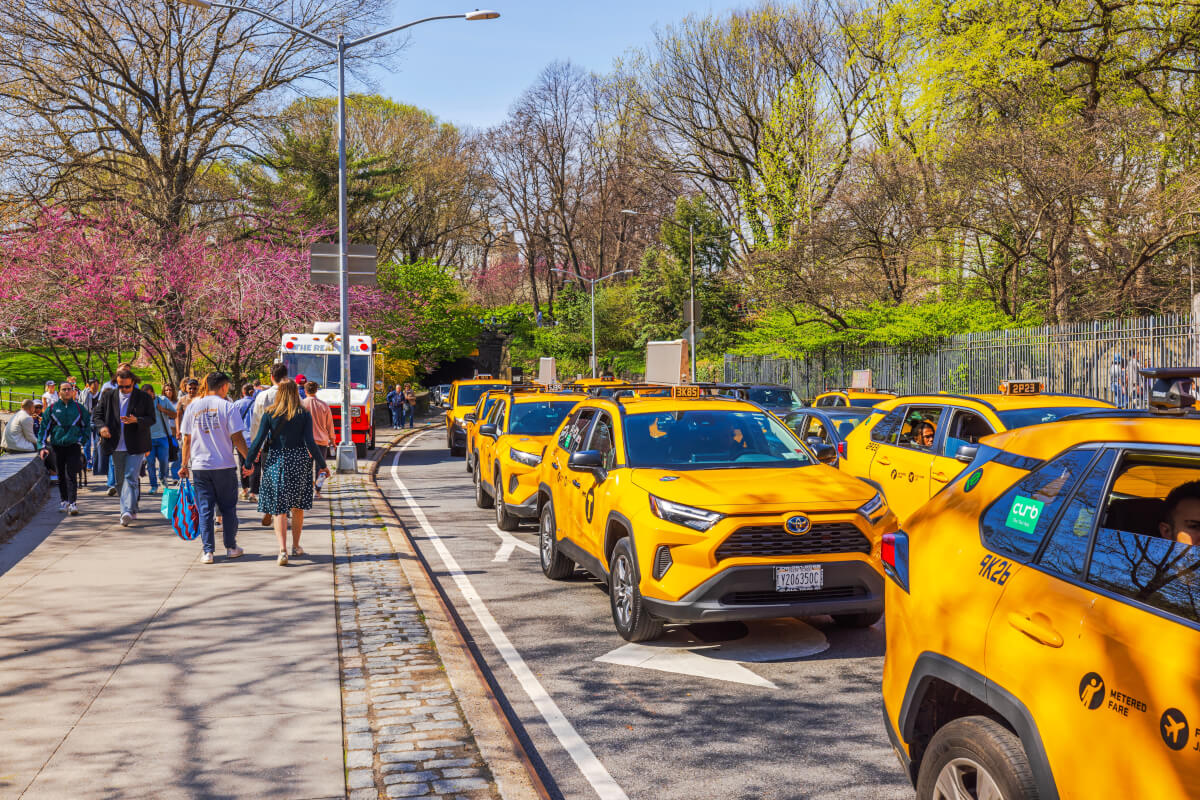
[[[349,271],[347,269],[347,255],[349,253],[349,235],[347,231],[347,213],[346,213],[346,52],[350,48],[358,47],[359,44],[366,44],[367,42],[373,42],[377,38],[396,34],[404,30],[406,28],[413,28],[414,25],[420,25],[421,23],[431,23],[438,19],[467,19],[469,22],[481,20],[481,19],[496,19],[500,14],[496,11],[468,11],[462,14],[442,14],[438,17],[426,17],[425,19],[416,19],[410,23],[404,23],[403,25],[396,25],[395,28],[389,28],[388,30],[378,31],[376,34],[370,34],[360,38],[353,40],[350,42],[346,41],[344,35],[338,34],[337,41],[330,40],[319,34],[313,34],[302,28],[298,28],[292,23],[284,22],[277,17],[272,17],[265,11],[259,11],[258,8],[251,8],[250,6],[235,6],[228,2],[209,2],[209,0],[179,0],[186,6],[193,6],[200,10],[208,8],[229,8],[230,11],[245,11],[263,19],[268,19],[276,25],[282,25],[288,30],[300,34],[301,36],[317,42],[318,44],[324,44],[337,52],[337,240],[338,240],[338,277],[337,277],[337,309],[341,314],[341,329],[342,329],[342,435],[341,441],[337,445],[337,471],[340,473],[356,473],[358,471],[358,452],[354,449],[354,437],[352,433],[352,414],[350,414],[350,282]],[[372,391],[373,387],[368,387]]]

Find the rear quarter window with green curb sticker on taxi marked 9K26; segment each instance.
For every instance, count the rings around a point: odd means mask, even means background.
[[[1093,456],[1094,450],[1072,450],[1000,495],[983,516],[984,545],[1021,561],[1032,558]]]

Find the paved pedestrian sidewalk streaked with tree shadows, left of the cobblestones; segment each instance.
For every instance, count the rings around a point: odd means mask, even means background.
[[[0,796],[344,796],[328,503],[288,569],[253,505],[205,566],[158,503],[94,479],[0,547]]]

